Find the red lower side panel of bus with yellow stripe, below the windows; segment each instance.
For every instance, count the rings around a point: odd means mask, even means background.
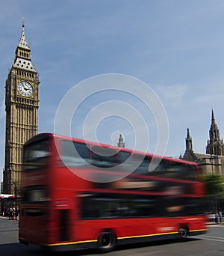
[[[99,234],[111,230],[118,243],[128,243],[128,240],[150,241],[178,237],[178,230],[182,225],[189,228],[190,235],[205,233],[205,217],[181,218],[143,218],[143,219],[102,219],[83,220],[77,222],[77,241],[97,242]]]

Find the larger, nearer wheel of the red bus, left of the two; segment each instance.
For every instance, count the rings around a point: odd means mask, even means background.
[[[105,231],[99,235],[98,248],[99,252],[111,252],[116,246],[116,236],[112,231]]]

